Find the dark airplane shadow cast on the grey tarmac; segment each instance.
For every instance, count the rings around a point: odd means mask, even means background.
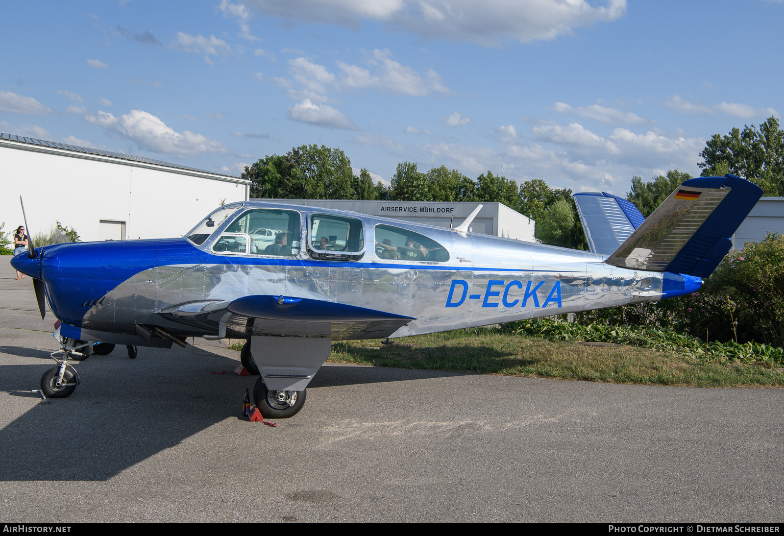
[[[40,350],[5,346],[39,357]],[[71,397],[35,404],[0,429],[0,481],[108,480],[124,469],[227,418],[241,417],[245,389],[258,376],[213,375],[238,361],[198,348],[140,348],[130,360],[118,347],[75,364],[82,384]],[[48,356],[47,356],[48,357]],[[27,397],[55,364],[0,367],[0,393]],[[315,389],[451,376],[362,366],[323,367]],[[29,403],[27,403],[29,404]],[[303,412],[307,412],[307,404]],[[296,419],[296,417],[295,417]]]

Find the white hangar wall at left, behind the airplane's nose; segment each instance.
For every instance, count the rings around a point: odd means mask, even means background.
[[[107,150],[0,132],[5,232],[49,232],[55,222],[82,241],[165,238],[185,234],[221,202],[248,198],[250,182]]]

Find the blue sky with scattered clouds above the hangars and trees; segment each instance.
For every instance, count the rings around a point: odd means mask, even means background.
[[[782,2],[6,2],[0,131],[238,175],[303,143],[624,194],[784,112]]]

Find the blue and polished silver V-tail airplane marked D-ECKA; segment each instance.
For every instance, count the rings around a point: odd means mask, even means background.
[[[33,278],[41,316],[47,300],[57,317],[60,350],[41,378],[45,397],[68,397],[80,383],[69,360],[114,345],[136,357],[138,346],[185,347],[188,337],[245,339],[241,363],[260,375],[253,402],[266,418],[289,418],[333,340],[695,292],[761,195],[737,176],[689,179],[644,219],[621,197],[574,194],[590,251],[473,233],[481,205],[447,229],[251,199],[216,208],[183,237],[28,241],[11,264]]]

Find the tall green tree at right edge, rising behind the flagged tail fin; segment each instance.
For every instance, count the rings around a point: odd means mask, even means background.
[[[766,119],[760,129],[745,125],[729,134],[714,134],[699,154],[703,177],[732,175],[750,180],[763,195],[784,196],[784,131],[779,121]]]

